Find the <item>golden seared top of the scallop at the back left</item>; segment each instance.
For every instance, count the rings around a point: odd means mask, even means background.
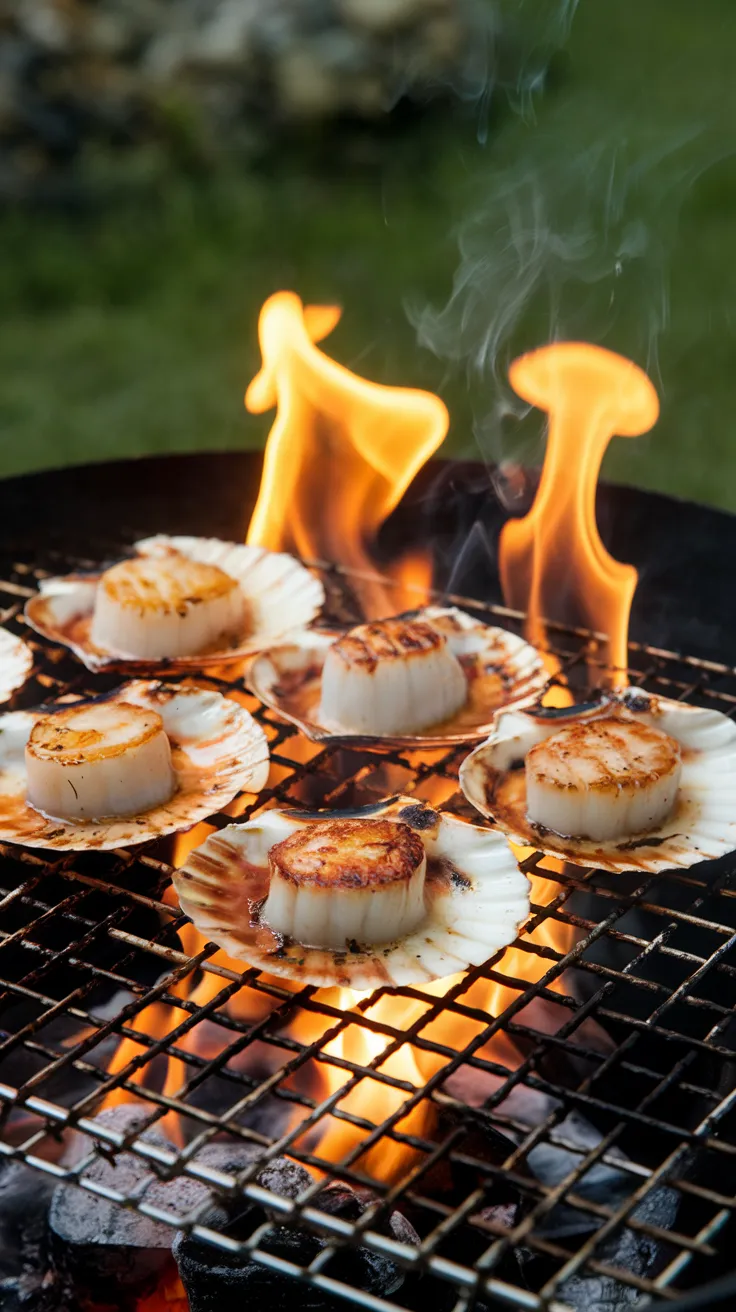
[[[119,606],[171,615],[186,614],[198,602],[226,597],[239,584],[218,565],[172,552],[163,560],[146,556],[122,560],[105,571],[100,586]]]

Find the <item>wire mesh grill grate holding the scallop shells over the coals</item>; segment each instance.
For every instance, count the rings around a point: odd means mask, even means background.
[[[0,584],[0,619],[18,631],[39,575],[16,563]],[[325,583],[333,609],[349,617],[354,580],[325,569]],[[509,627],[518,619],[478,602],[472,609]],[[33,646],[33,678],[18,705],[100,690],[101,681],[66,653]],[[581,684],[581,635],[559,630],[555,646],[560,677]],[[733,669],[636,646],[631,660],[631,682],[726,714],[736,707]],[[471,817],[457,789],[466,749],[421,760],[325,749],[260,708],[240,673],[231,678],[223,668],[198,681],[258,716],[273,771],[268,792],[213,816],[197,841],[269,803],[340,807],[398,791]],[[169,840],[140,851],[45,859],[0,846],[1,1155],[193,1228],[219,1249],[247,1249],[266,1267],[366,1308],[403,1305],[401,1292],[388,1303],[331,1274],[335,1254],[356,1241],[411,1273],[432,1274],[458,1309],[492,1296],[559,1312],[571,1305],[575,1282],[592,1275],[666,1300],[720,1269],[736,1208],[728,1183],[736,1155],[733,858],[668,876],[614,878],[571,866],[551,871],[531,854],[523,867],[548,883],[535,886],[514,954],[470,970],[442,996],[379,991],[345,1010],[337,991],[294,993],[255,971],[241,974],[211,946],[192,950],[192,932],[167,900],[172,862],[184,850]],[[478,1004],[493,985],[510,991],[496,1018]],[[356,1044],[349,1039],[357,1031]],[[420,1088],[392,1061],[407,1043],[430,1071]],[[345,1105],[366,1080],[378,1099],[370,1115],[362,1102],[358,1110],[353,1099]],[[178,1114],[186,1147],[94,1122],[110,1094],[142,1101],[148,1122],[169,1134]],[[428,1105],[434,1128],[420,1119]],[[412,1109],[420,1111],[407,1119]],[[365,1136],[338,1164],[320,1151],[327,1124]],[[571,1127],[581,1124],[586,1134],[576,1138]],[[495,1153],[478,1149],[493,1126],[508,1136],[501,1156],[497,1144]],[[207,1165],[198,1153],[215,1136],[256,1144],[266,1158],[296,1157],[316,1169],[314,1187],[298,1200],[270,1194],[255,1178],[262,1158],[237,1178]],[[366,1172],[373,1144],[383,1157],[390,1149],[409,1155],[399,1183],[377,1183],[374,1166]],[[241,1189],[327,1246],[299,1267],[258,1248],[265,1227],[235,1240],[151,1202],[144,1189],[123,1197],[85,1178],[100,1151],[114,1156],[123,1147],[150,1165],[151,1179],[186,1174],[220,1194]],[[551,1177],[530,1165],[543,1149],[558,1153]],[[443,1165],[471,1181],[462,1198],[433,1187]],[[628,1181],[622,1197],[590,1187],[606,1168],[619,1187]],[[317,1172],[370,1185],[375,1203],[357,1223],[320,1211]],[[499,1189],[521,1199],[510,1220],[487,1210]],[[380,1232],[390,1204],[421,1220],[419,1249]],[[572,1228],[555,1224],[560,1204]],[[463,1256],[468,1233],[472,1260]],[[657,1263],[639,1260],[655,1248]]]

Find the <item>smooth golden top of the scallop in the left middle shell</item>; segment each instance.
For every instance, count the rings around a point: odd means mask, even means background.
[[[35,722],[26,750],[39,761],[88,765],[122,756],[161,733],[164,722],[156,711],[130,702],[70,706]]]

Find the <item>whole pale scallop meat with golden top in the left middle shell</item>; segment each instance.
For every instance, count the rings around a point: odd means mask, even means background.
[[[28,800],[67,820],[161,806],[176,779],[164,722],[130,702],[92,702],[35,722],[25,749]]]

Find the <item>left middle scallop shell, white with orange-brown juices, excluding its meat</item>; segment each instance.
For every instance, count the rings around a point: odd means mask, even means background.
[[[58,705],[68,706],[73,698]],[[260,792],[269,774],[264,731],[237,702],[201,687],[136,680],[98,701],[126,701],[156,711],[168,733],[177,791],[164,806],[110,820],[52,820],[26,802],[25,745],[41,715],[0,715],[0,841],[58,851],[105,850],[189,829],[237,792]]]

